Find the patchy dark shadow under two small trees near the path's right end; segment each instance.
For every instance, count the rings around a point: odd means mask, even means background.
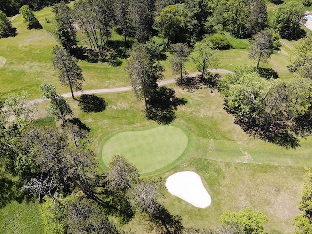
[[[198,89],[215,89],[219,83],[219,79],[222,78],[221,75],[215,73],[207,73],[204,78],[201,75],[195,77],[183,77],[176,79],[176,85],[181,87],[184,90],[187,90],[189,93],[193,93]]]

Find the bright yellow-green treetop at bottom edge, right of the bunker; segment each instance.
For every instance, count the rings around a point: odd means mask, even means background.
[[[220,221],[225,225],[238,224],[247,234],[266,234],[263,224],[268,222],[268,217],[261,211],[254,212],[251,207],[247,207],[237,213],[225,211],[220,216]]]

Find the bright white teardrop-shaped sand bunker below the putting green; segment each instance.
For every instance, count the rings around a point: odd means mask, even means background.
[[[206,208],[211,204],[211,198],[206,191],[200,176],[195,172],[177,172],[168,177],[166,188],[175,195],[195,207]]]

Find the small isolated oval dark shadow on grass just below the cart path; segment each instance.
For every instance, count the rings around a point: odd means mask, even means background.
[[[102,112],[106,108],[104,98],[98,97],[95,94],[83,94],[79,97],[79,106],[83,112]]]

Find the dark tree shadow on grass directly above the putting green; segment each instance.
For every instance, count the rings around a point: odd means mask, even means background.
[[[167,125],[176,119],[177,107],[185,105],[187,101],[184,98],[176,98],[174,89],[161,86],[147,103],[145,116],[158,124]]]

